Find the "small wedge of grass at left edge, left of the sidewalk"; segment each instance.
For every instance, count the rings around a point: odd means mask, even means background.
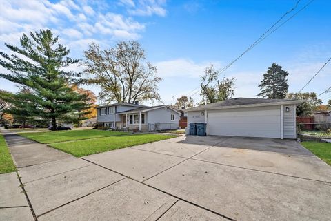
[[[9,149],[3,135],[0,134],[0,173],[10,173],[16,171],[12,156],[10,156]]]

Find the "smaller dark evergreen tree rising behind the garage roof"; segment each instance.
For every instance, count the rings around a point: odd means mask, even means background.
[[[268,71],[263,74],[261,81],[260,94],[257,96],[269,99],[283,99],[288,93],[288,72],[282,69],[280,65],[272,63]]]

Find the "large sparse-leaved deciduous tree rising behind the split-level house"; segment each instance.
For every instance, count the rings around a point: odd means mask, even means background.
[[[99,98],[105,103],[160,101],[157,83],[162,79],[157,77],[157,67],[146,62],[137,41],[122,41],[106,50],[92,43],[84,56],[86,83],[101,87]]]

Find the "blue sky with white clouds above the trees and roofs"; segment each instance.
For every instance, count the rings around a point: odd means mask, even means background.
[[[297,0],[256,1],[0,1],[0,50],[17,44],[30,30],[50,28],[61,43],[81,59],[91,42],[110,48],[134,39],[157,65],[163,103],[193,94],[199,76],[210,63],[221,68],[248,48]],[[308,0],[301,0],[297,9]],[[290,75],[289,92],[298,92],[331,56],[331,1],[315,0],[245,54],[222,76],[237,79],[235,96],[255,97],[262,74],[275,62]],[[292,12],[295,13],[296,11]],[[292,15],[292,14],[290,14]],[[76,67],[79,69],[79,67]],[[6,70],[0,69],[1,72]],[[0,79],[0,88],[16,90]],[[331,86],[331,63],[303,92],[323,92]],[[96,94],[97,87],[90,87]],[[199,102],[199,93],[194,94]],[[324,102],[331,92],[321,96]]]

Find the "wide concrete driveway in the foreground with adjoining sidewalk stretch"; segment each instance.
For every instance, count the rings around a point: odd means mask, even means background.
[[[38,162],[24,139],[7,140],[37,220],[331,217],[331,167],[294,140],[182,136],[83,158],[30,143],[59,158]]]

